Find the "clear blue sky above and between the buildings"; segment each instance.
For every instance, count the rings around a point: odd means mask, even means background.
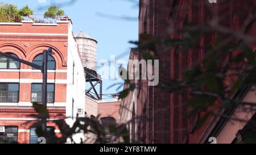
[[[6,0],[19,8],[29,5],[35,14],[43,14],[49,5],[69,2],[71,0]],[[61,9],[72,19],[73,32],[80,29],[98,41],[97,60],[110,60],[110,55],[128,60],[130,48],[134,45],[130,40],[138,40],[138,5],[127,0],[77,0],[72,5],[61,5]],[[43,9],[42,9],[43,8]],[[103,14],[103,15],[102,15]],[[113,18],[125,16],[135,20]],[[100,70],[100,68],[98,68]],[[117,93],[122,89],[107,88],[117,80],[104,80],[103,94]],[[106,97],[104,97],[106,98]],[[105,99],[109,100],[109,99]]]

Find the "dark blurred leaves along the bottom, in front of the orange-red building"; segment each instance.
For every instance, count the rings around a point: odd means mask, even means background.
[[[83,134],[86,138],[81,139],[80,144],[94,143],[94,144],[106,144],[106,143],[129,143],[129,132],[125,125],[116,123],[102,124],[99,116],[97,118],[76,118],[72,127],[67,124],[66,119],[56,119],[48,121],[55,124],[60,130],[60,135],[56,135],[55,129],[52,128],[49,131],[43,131],[43,120],[49,119],[47,108],[42,104],[33,103],[33,107],[38,114],[28,115],[32,118],[36,118],[37,121],[29,121],[27,124],[32,123],[32,127],[36,127],[36,135],[38,137],[45,137],[47,144],[63,144],[63,143],[78,143],[73,139],[77,134]],[[57,115],[57,118],[64,118],[63,115]],[[86,136],[87,135],[87,136]]]

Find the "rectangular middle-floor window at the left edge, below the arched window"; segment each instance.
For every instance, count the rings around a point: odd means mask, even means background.
[[[0,83],[0,103],[19,102],[19,83]]]

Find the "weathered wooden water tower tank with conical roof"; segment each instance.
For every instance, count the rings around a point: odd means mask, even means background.
[[[75,39],[82,57],[82,65],[96,71],[97,40],[81,30],[75,34]]]

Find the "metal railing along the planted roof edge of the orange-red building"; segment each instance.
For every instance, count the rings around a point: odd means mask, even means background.
[[[56,15],[40,15],[34,14],[29,16],[20,15],[0,15],[0,23],[21,23],[22,20],[32,20],[34,23],[56,23],[60,20],[68,20],[68,16],[56,16]]]

